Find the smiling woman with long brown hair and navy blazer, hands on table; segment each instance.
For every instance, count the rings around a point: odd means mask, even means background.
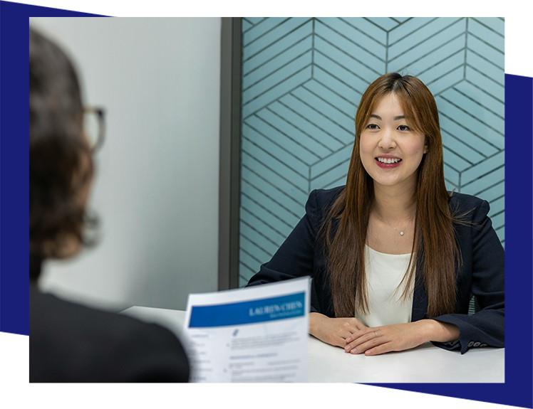
[[[358,106],[346,186],[311,192],[248,285],[310,275],[310,334],[351,354],[503,347],[504,250],[487,201],[447,192],[443,163],[428,87],[381,76]]]

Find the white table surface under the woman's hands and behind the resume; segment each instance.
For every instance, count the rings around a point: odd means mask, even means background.
[[[185,311],[131,307],[122,312],[166,326],[178,337]],[[352,355],[309,336],[310,386],[355,386],[369,383],[502,383],[504,349],[476,348],[461,355],[426,343],[378,356]]]

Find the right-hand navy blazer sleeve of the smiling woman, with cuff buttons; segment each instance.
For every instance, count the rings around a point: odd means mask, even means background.
[[[472,217],[473,223],[468,228],[463,226],[463,233],[459,235],[463,255],[463,267],[457,277],[460,314],[434,318],[455,324],[460,336],[453,342],[433,344],[444,349],[460,349],[461,354],[470,348],[504,346],[504,250],[487,216],[489,210],[489,203],[482,201]],[[465,235],[466,238],[461,237]],[[470,292],[481,307],[472,315],[467,314]],[[462,311],[464,309],[466,311]]]

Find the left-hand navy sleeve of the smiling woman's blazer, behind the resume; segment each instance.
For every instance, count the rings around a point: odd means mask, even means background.
[[[291,278],[314,275],[314,252],[316,235],[321,220],[321,208],[317,191],[311,191],[307,200],[306,213],[291,231],[269,262],[261,266],[252,276],[247,287],[268,282],[290,280]],[[311,307],[311,312],[317,312]]]

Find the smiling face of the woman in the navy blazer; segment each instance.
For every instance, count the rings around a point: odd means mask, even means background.
[[[389,92],[378,101],[361,132],[364,168],[374,184],[414,188],[426,152],[425,136],[410,129],[400,100]]]

